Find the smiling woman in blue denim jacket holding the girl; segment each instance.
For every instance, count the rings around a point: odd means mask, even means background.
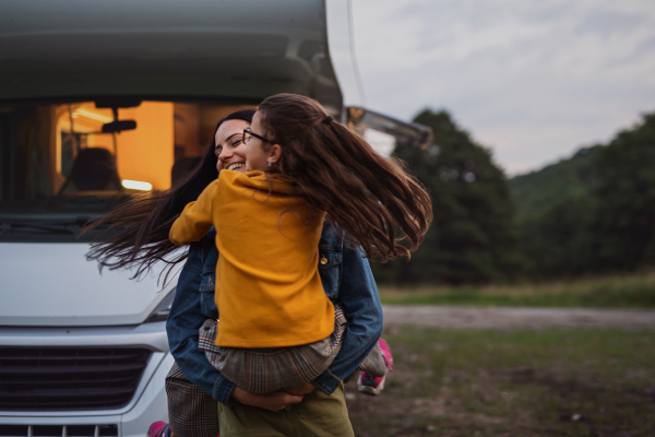
[[[178,187],[156,198],[140,199],[98,221],[114,226],[130,223],[134,226],[128,228],[128,235],[95,246],[90,258],[114,269],[136,267],[136,274],[142,274],[156,259],[170,255],[175,248],[168,246],[164,232],[186,203],[216,179],[218,169],[245,172],[240,141],[251,119],[252,111],[239,111],[222,120],[202,164]],[[217,164],[216,155],[221,155]],[[131,214],[128,221],[127,211],[141,211],[141,216]],[[140,223],[147,222],[154,225],[150,229],[140,228]],[[146,245],[150,246],[144,248]],[[314,380],[319,390],[309,385],[289,390],[294,393],[252,394],[235,388],[209,364],[198,347],[198,329],[205,319],[217,317],[211,292],[218,253],[212,235],[191,246],[167,323],[170,351],[179,366],[174,367],[167,378],[167,391],[176,393],[169,397],[170,426],[175,434],[215,436],[218,434],[216,411],[219,410],[224,436],[254,429],[263,435],[353,435],[341,380],[349,376],[376,345],[382,330],[381,305],[368,262],[361,252],[344,247],[331,226],[323,231],[320,252],[319,268],[325,293],[344,306],[348,319],[342,350],[330,368]],[[109,260],[117,255],[122,256],[119,261]],[[183,259],[184,256],[177,256],[168,262],[172,265]],[[279,411],[294,404],[298,405]]]

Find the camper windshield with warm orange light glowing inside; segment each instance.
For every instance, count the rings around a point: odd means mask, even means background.
[[[0,103],[0,240],[78,240],[88,218],[188,175],[245,107]]]

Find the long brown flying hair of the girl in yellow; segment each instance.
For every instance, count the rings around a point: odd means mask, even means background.
[[[432,202],[401,161],[379,155],[348,128],[326,119],[309,97],[277,94],[258,113],[264,137],[282,146],[279,161],[267,170],[290,177],[367,257],[386,261],[418,248],[432,220]]]

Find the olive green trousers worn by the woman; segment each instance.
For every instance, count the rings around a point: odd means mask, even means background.
[[[274,413],[239,402],[231,408],[218,403],[221,437],[354,437],[348,418],[344,385],[332,395],[320,390],[305,395],[302,402]]]

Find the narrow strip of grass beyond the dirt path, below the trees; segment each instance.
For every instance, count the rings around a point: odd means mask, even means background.
[[[655,272],[545,284],[485,287],[380,287],[383,304],[509,307],[655,308]]]

